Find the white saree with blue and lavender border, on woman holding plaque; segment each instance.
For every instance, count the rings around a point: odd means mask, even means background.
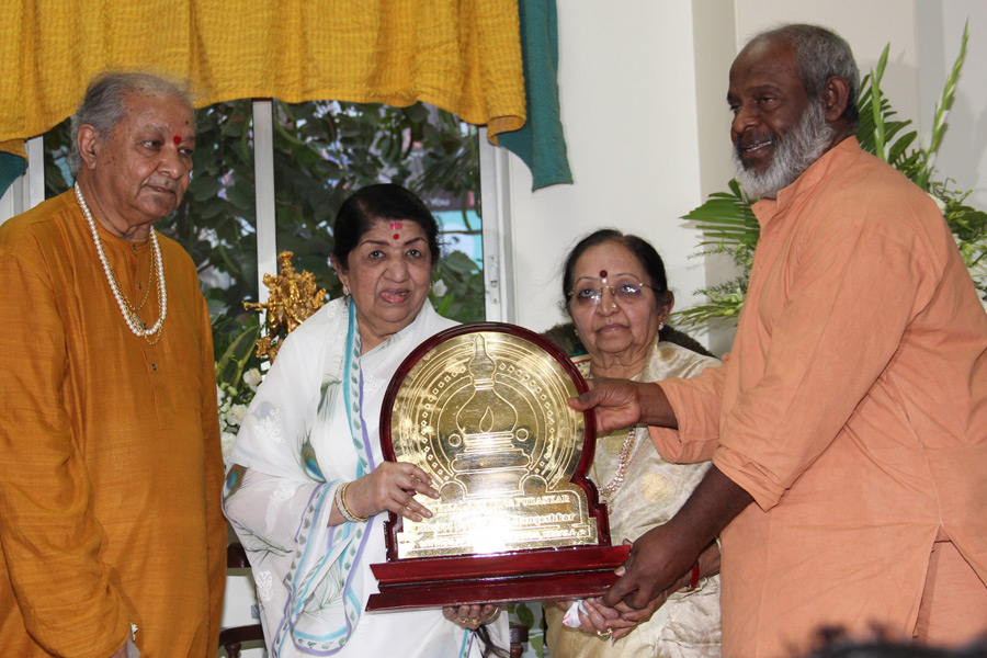
[[[329,526],[337,487],[383,460],[381,406],[398,365],[454,324],[427,304],[361,355],[355,309],[336,299],[287,338],[258,389],[224,500],[250,557],[272,657],[480,656],[475,634],[441,610],[363,612],[377,591],[370,565],[385,561],[386,513]],[[507,647],[507,615],[489,628]]]

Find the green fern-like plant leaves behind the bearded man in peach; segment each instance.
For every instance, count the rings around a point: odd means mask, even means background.
[[[882,92],[881,80],[889,45],[881,54],[876,69],[865,76],[861,84],[856,138],[863,150],[892,164],[937,201],[974,283],[987,300],[987,214],[965,204],[969,192],[953,189],[955,181],[934,179],[935,154],[945,135],[949,109],[966,56],[967,37],[968,31],[964,27],[960,54],[935,104],[928,146],[914,147],[918,133],[907,129],[911,121],[895,118],[896,112]],[[726,254],[739,272],[730,281],[696,291],[708,302],[678,311],[676,317],[684,325],[695,326],[714,319],[736,322],[747,295],[760,225],[750,209],[750,200],[744,196],[736,181],[729,182],[729,190],[711,194],[706,203],[682,217],[703,232],[696,257]]]

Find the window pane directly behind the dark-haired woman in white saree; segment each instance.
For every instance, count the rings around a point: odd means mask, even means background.
[[[484,319],[477,131],[454,115],[409,107],[274,102],[277,250],[341,294],[329,265],[331,225],[351,191],[394,182],[421,196],[440,222],[443,258],[432,302],[447,317]],[[439,281],[442,283],[440,284]],[[439,294],[443,293],[443,294]]]

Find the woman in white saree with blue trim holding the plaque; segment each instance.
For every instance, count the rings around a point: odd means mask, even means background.
[[[331,261],[344,297],[284,342],[230,457],[224,508],[250,557],[272,657],[479,657],[507,646],[492,605],[366,613],[387,511],[419,521],[423,470],[385,462],[378,424],[401,361],[455,322],[429,305],[438,225],[399,185],[339,211]],[[410,492],[410,494],[409,494]],[[415,496],[418,495],[418,496]],[[483,640],[481,640],[483,638]]]

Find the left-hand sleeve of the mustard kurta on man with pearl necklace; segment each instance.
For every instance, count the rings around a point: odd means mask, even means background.
[[[0,239],[0,579],[10,579],[23,624],[45,649],[105,658],[126,642],[131,612],[101,559],[103,529],[64,399],[72,327],[56,313],[36,247],[25,234]],[[4,613],[0,622],[5,637],[20,620]]]

